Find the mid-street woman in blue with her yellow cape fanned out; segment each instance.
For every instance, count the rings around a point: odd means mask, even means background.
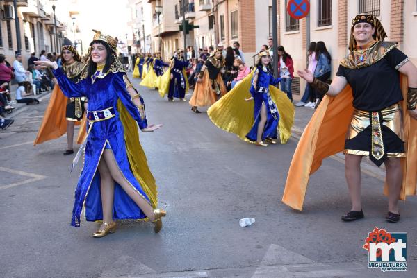
[[[277,144],[277,129],[281,143],[291,137],[294,107],[275,85],[268,51],[258,54],[259,61],[250,75],[228,94],[208,108],[207,114],[219,128],[257,146]],[[254,101],[254,104],[248,102]]]

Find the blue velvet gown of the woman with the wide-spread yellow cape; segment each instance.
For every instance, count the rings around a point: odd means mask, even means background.
[[[252,85],[250,87],[250,94],[254,98],[254,125],[247,133],[246,138],[250,141],[256,141],[258,134],[258,124],[261,120],[261,107],[262,104],[266,105],[266,123],[263,129],[262,140],[267,138],[277,138],[277,127],[279,122],[279,113],[277,105],[269,93],[269,85],[277,85],[281,78],[274,78],[268,68],[257,67],[258,81],[256,82],[256,88]],[[252,78],[253,84],[253,78]]]

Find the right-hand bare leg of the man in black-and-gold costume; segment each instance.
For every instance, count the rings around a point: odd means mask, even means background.
[[[400,198],[402,184],[402,168],[399,158],[388,158],[384,162],[386,168],[386,182],[388,184],[388,211],[399,214],[398,198]]]

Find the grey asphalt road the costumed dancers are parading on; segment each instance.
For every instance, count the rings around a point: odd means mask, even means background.
[[[325,160],[311,177],[304,210],[293,211],[281,196],[297,139],[246,144],[188,103],[169,103],[143,87],[140,93],[149,123],[164,124],[140,134],[167,210],[161,233],[133,220],[104,238],[91,236],[97,223],[70,226],[81,164],[70,175],[65,136],[33,147],[49,98],[42,96],[0,133],[0,277],[417,277],[417,199],[402,202],[400,223],[386,223],[375,168],[363,174],[365,219],[340,219],[350,200],[338,157]],[[306,109],[297,108],[296,123],[308,121]],[[245,217],[256,222],[240,227]],[[362,245],[375,226],[408,232],[407,272],[368,269]]]

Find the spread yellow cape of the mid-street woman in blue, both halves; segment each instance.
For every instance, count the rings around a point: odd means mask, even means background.
[[[250,98],[250,87],[252,71],[241,82],[238,83],[229,93],[220,98],[219,101],[208,108],[208,117],[222,130],[236,134],[240,139],[249,141],[246,138],[254,124],[254,104],[245,101]],[[295,110],[293,104],[284,92],[274,86],[269,86],[270,96],[277,105],[279,112],[279,138],[282,144],[286,144],[291,137],[291,127],[294,123]]]

